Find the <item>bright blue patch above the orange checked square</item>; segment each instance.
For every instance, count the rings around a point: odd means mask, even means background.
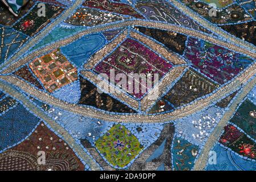
[[[62,53],[80,67],[105,44],[102,34],[85,35],[81,39],[61,48]]]

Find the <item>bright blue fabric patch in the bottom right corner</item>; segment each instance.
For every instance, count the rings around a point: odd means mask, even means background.
[[[214,155],[211,156],[211,164],[206,167],[207,171],[255,171],[256,163],[250,160],[242,159],[235,155],[234,152],[225,150],[220,144],[216,144],[213,148],[216,152],[216,163],[214,163]]]

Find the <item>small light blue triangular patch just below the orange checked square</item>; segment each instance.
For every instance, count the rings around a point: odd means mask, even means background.
[[[52,93],[52,96],[66,102],[77,104],[81,96],[79,80],[56,90],[56,92]]]

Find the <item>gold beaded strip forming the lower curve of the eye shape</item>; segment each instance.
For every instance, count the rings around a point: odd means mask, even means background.
[[[254,65],[251,74],[256,73],[256,64]],[[247,73],[248,75],[248,73]],[[164,114],[112,114],[108,111],[99,111],[95,110],[91,107],[86,106],[79,106],[74,104],[68,104],[67,102],[60,101],[58,98],[53,96],[49,96],[47,93],[44,93],[40,90],[37,90],[27,84],[25,81],[20,80],[15,76],[0,76],[2,80],[9,82],[18,88],[22,89],[24,92],[30,94],[31,96],[36,96],[39,100],[42,100],[50,105],[55,105],[62,109],[71,111],[73,113],[78,113],[84,116],[102,119],[103,121],[113,121],[113,122],[127,122],[127,123],[134,123],[134,122],[147,122],[147,123],[158,123],[158,122],[165,122],[170,121],[178,118],[185,117],[186,115],[190,115],[198,110],[203,109],[204,107],[209,106],[214,101],[220,100],[223,96],[228,94],[231,90],[238,89],[241,84],[245,83],[247,80],[245,78],[241,78],[243,76],[238,77],[233,82],[223,86],[219,90],[214,90],[213,94],[209,97],[202,97],[201,100],[193,101],[192,104],[185,106],[185,107],[178,107],[171,113],[164,113]],[[250,78],[250,77],[249,77]],[[1,81],[0,81],[1,82]],[[1,84],[0,84],[1,88]]]

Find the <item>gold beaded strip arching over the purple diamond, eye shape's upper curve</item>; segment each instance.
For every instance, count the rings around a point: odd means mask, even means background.
[[[58,42],[54,42],[54,43],[50,44],[49,46],[46,46],[44,48],[38,49],[38,50],[30,53],[29,55],[27,55],[26,57],[23,57],[19,61],[15,62],[13,64],[10,64],[9,67],[6,67],[1,73],[2,74],[11,73],[16,68],[20,67],[22,64],[27,63],[29,60],[42,54],[43,52],[50,51],[51,49],[54,49],[56,47],[64,46],[68,43],[73,42],[76,39],[79,39],[81,36],[84,36],[87,34],[92,34],[95,32],[105,31],[105,30],[112,29],[112,28],[120,28],[120,27],[126,27],[126,26],[145,26],[145,27],[159,28],[161,30],[174,31],[174,32],[178,32],[181,34],[190,35],[190,36],[193,36],[196,38],[204,39],[210,43],[217,44],[219,46],[229,48],[233,51],[243,53],[244,55],[256,58],[256,53],[253,52],[251,49],[247,50],[247,49],[243,48],[243,46],[241,46],[240,44],[238,44],[238,43],[233,44],[233,43],[227,42],[225,39],[218,40],[218,38],[216,36],[212,36],[212,35],[206,34],[204,32],[199,32],[196,30],[182,27],[182,26],[166,24],[166,23],[162,23],[162,22],[148,21],[148,20],[147,21],[133,20],[132,19],[132,20],[125,20],[124,22],[117,22],[117,23],[113,23],[113,24],[107,24],[104,26],[92,27],[92,28],[88,28],[87,30],[83,30],[74,36],[70,36],[66,39],[59,40]]]

